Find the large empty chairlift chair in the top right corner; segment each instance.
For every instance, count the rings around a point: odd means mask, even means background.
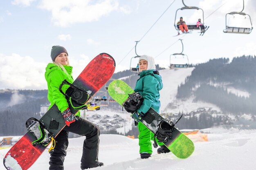
[[[224,33],[242,33],[242,34],[249,34],[252,32],[252,19],[250,17],[250,15],[246,14],[243,12],[245,8],[245,1],[243,0],[243,9],[242,11],[240,12],[230,12],[230,13],[227,13],[226,14],[226,29],[223,30]],[[234,26],[229,26],[227,24],[227,16],[228,15],[233,15],[233,17],[235,18],[235,15],[238,14],[238,15],[243,15],[246,19],[246,16],[249,17],[249,20],[250,20],[250,24],[251,24],[251,27],[234,27]]]

